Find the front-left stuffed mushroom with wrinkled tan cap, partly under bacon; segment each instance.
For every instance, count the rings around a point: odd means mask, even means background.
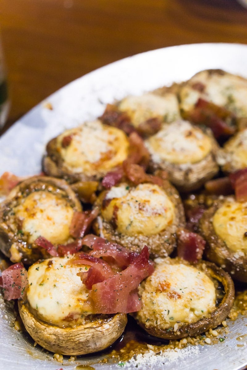
[[[85,309],[89,291],[79,275],[90,266],[72,260],[73,256],[53,257],[32,265],[26,300],[19,300],[18,305],[27,332],[40,346],[59,354],[81,355],[114,343],[123,333],[127,315],[93,314]]]

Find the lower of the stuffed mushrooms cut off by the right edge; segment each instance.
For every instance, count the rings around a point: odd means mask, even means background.
[[[233,279],[247,282],[247,202],[221,197],[203,213],[200,233],[206,239],[207,259]]]

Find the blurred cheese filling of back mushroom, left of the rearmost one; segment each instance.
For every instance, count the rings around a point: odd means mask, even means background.
[[[167,93],[164,97],[151,93],[141,96],[131,95],[124,98],[118,108],[120,111],[127,112],[134,127],[154,117],[159,117],[166,122],[180,118],[176,95],[171,93]]]

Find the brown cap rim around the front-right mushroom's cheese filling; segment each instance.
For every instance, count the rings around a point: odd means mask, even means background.
[[[180,263],[185,261],[180,260]],[[223,269],[218,268],[214,263],[201,261],[194,267],[206,273],[211,279],[216,279],[223,285],[224,296],[219,305],[211,312],[209,317],[203,317],[194,323],[178,324],[176,330],[173,326],[168,329],[161,329],[158,326],[146,326],[145,322],[138,321],[138,324],[149,334],[163,339],[178,339],[188,336],[196,336],[210,328],[216,327],[226,319],[234,302],[234,283],[231,277]],[[216,297],[217,299],[218,297]],[[133,314],[135,317],[135,314]]]

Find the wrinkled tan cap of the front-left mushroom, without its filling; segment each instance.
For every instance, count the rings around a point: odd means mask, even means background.
[[[59,353],[81,355],[101,351],[113,344],[123,333],[127,315],[95,315],[94,320],[75,327],[57,327],[34,317],[27,303],[18,302],[24,326],[35,342]]]

